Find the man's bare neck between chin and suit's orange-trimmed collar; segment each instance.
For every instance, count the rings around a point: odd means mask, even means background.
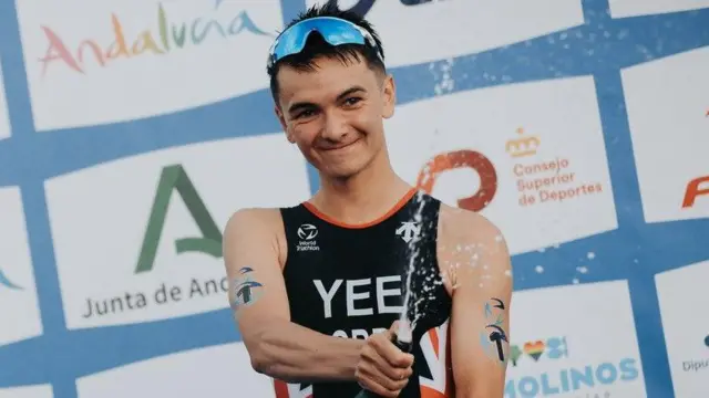
[[[310,202],[339,222],[364,224],[386,216],[411,188],[388,161],[374,160],[347,180],[322,178]]]

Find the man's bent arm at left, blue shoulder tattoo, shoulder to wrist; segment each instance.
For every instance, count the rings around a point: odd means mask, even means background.
[[[245,209],[232,217],[224,233],[229,302],[251,365],[284,381],[354,380],[363,341],[290,322],[278,228],[277,209]]]

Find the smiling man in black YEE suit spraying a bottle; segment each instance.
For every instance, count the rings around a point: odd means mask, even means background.
[[[279,398],[362,388],[501,398],[506,244],[482,216],[393,171],[383,118],[394,82],[372,27],[314,7],[276,40],[268,72],[286,138],[318,169],[320,190],[291,208],[242,209],[225,229],[229,298],[254,369],[276,379]],[[392,343],[407,292],[410,354]]]

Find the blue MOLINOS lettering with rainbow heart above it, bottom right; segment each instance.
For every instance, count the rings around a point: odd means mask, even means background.
[[[526,375],[508,377],[505,398],[554,397],[568,392],[583,398],[625,398],[614,396],[610,386],[637,379],[638,360],[624,357],[585,366],[564,366],[563,362],[569,358],[567,341],[567,337],[551,337],[524,343],[522,347],[512,345],[511,366],[531,362],[536,371],[526,370]]]

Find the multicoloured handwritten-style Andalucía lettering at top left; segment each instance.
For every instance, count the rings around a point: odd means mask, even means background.
[[[220,2],[216,4],[217,9],[219,4]],[[51,63],[63,63],[72,71],[83,74],[86,73],[86,65],[107,66],[121,59],[127,60],[146,54],[165,55],[185,46],[201,45],[208,39],[229,39],[244,31],[257,35],[271,35],[258,28],[244,10],[230,15],[220,14],[218,13],[215,18],[202,15],[188,21],[174,21],[163,4],[158,3],[155,25],[152,29],[126,32],[120,17],[112,13],[111,25],[114,40],[111,43],[101,43],[91,38],[83,38],[72,43],[63,39],[54,29],[42,25],[42,32],[48,41],[47,52],[39,59],[42,63],[42,75],[47,74]]]

